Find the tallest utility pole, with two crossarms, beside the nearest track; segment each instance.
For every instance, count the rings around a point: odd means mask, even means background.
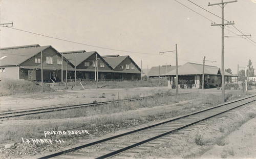
[[[217,4],[210,4],[208,6],[215,6],[215,5],[221,5],[221,24],[212,24],[211,26],[221,26],[221,87],[222,87],[222,102],[225,102],[225,67],[224,67],[224,27],[226,25],[234,25],[234,22],[228,22],[227,24],[224,24],[224,4],[228,4],[228,3],[233,3],[233,2],[238,2],[236,1],[230,1],[230,2],[223,2],[221,1],[221,3],[217,3]]]

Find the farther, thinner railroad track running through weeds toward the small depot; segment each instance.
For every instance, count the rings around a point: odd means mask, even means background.
[[[188,93],[183,93],[180,95],[184,95]],[[97,103],[86,103],[86,104],[77,104],[77,105],[62,105],[62,106],[54,106],[54,107],[41,107],[41,108],[34,108],[34,109],[22,109],[22,110],[13,110],[13,111],[3,111],[0,112],[0,119],[3,118],[11,118],[11,117],[19,117],[19,116],[26,116],[26,115],[34,115],[38,113],[45,113],[51,111],[60,111],[60,110],[67,110],[73,108],[80,108],[80,107],[89,107],[89,106],[99,106],[104,104],[110,104],[114,102],[126,102],[126,101],[135,101],[135,100],[143,100],[143,99],[150,99],[150,98],[158,98],[158,97],[166,97],[166,96],[175,96],[176,94],[160,94],[155,96],[146,96],[140,98],[130,98],[130,99],[122,99],[122,100],[112,100],[112,101],[104,101],[104,102],[97,102]]]

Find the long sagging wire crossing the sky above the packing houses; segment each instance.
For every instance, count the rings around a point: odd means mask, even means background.
[[[3,26],[3,27],[10,28],[8,26]],[[134,51],[126,51],[126,50],[118,50],[118,49],[112,49],[112,48],[98,47],[98,46],[93,46],[91,44],[80,43],[80,42],[75,42],[75,41],[70,41],[70,40],[65,40],[65,39],[60,39],[60,38],[56,38],[56,37],[52,37],[52,36],[47,36],[47,35],[42,35],[42,34],[38,34],[38,33],[33,33],[33,32],[29,32],[29,31],[26,31],[26,30],[17,29],[17,28],[13,28],[13,27],[10,28],[10,29],[14,29],[14,30],[18,30],[18,31],[23,31],[23,32],[31,33],[31,34],[35,34],[35,35],[40,35],[40,36],[44,36],[44,37],[48,37],[48,38],[52,38],[52,39],[57,39],[57,40],[62,40],[62,41],[82,44],[84,46],[89,46],[89,47],[94,47],[94,48],[100,48],[100,49],[106,49],[106,50],[114,50],[114,51],[121,51],[121,52],[129,52],[129,53],[136,53],[136,54],[158,55],[158,54],[150,54],[150,53],[143,53],[143,52],[134,52]]]

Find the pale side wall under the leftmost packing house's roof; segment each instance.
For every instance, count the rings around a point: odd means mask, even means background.
[[[4,66],[5,72],[0,72],[0,79],[19,79],[18,66]]]

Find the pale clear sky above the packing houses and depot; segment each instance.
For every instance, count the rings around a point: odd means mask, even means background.
[[[142,69],[147,66],[150,69],[166,63],[176,65],[175,52],[163,55],[159,52],[174,51],[177,44],[178,65],[202,64],[205,56],[205,60],[217,61],[205,64],[221,68],[221,27],[210,26],[211,21],[220,24],[221,18],[209,13],[221,16],[221,7],[208,6],[208,3],[221,1],[191,0],[209,12],[187,0],[177,1],[2,0],[0,23],[13,21],[13,27],[0,28],[0,47],[40,44],[51,45],[59,52],[86,50],[97,51],[102,56],[130,55],[139,66],[142,60]],[[238,30],[251,34],[250,39],[256,42],[256,0],[238,0],[227,4],[224,10],[225,19],[234,21]],[[225,35],[242,35],[231,25],[225,28]],[[225,38],[225,69],[230,68],[236,74],[238,64],[244,67],[249,59],[256,67],[256,43],[253,41],[242,37]]]

